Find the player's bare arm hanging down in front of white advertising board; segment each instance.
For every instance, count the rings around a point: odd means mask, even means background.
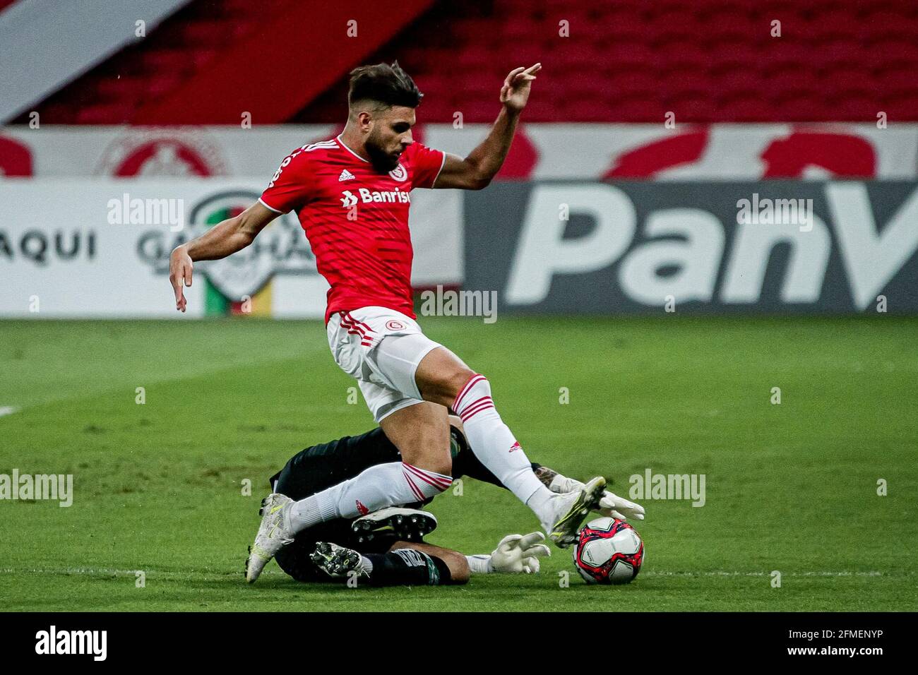
[[[218,260],[241,251],[278,215],[261,202],[255,202],[238,216],[223,220],[197,239],[175,247],[169,256],[169,281],[175,291],[175,309],[185,311],[184,287],[191,286],[196,260]]]

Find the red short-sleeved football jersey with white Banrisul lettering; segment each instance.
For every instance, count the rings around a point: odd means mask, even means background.
[[[332,312],[366,306],[415,318],[411,298],[411,190],[432,187],[446,155],[420,143],[380,174],[341,141],[319,141],[286,156],[262,193],[278,213],[293,209],[329,282]]]

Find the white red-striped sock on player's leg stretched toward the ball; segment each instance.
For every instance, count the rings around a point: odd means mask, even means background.
[[[453,411],[462,418],[465,437],[481,463],[535,512],[540,523],[550,521],[552,493],[536,478],[529,457],[500,419],[487,377],[471,377],[456,396]]]

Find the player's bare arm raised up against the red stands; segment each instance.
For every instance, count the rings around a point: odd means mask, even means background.
[[[510,71],[500,89],[500,102],[504,107],[487,138],[465,159],[447,152],[434,187],[480,190],[491,182],[507,158],[517,120],[529,100],[532,80],[541,69],[542,64],[536,63],[529,68]]]

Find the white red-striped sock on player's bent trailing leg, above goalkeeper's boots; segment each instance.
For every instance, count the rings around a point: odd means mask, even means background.
[[[453,484],[451,476],[414,467],[405,462],[377,464],[290,507],[294,532],[336,518],[356,518],[396,504],[435,497]]]

